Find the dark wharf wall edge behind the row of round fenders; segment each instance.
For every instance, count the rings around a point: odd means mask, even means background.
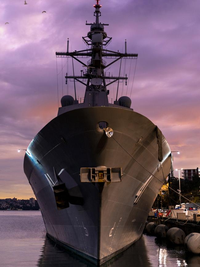
[[[177,220],[168,217],[155,218],[154,216],[148,216],[148,222],[154,222],[156,225],[163,224],[169,228],[178,227],[184,231],[184,233],[189,235],[190,233],[200,233],[200,222],[195,222],[192,220]]]

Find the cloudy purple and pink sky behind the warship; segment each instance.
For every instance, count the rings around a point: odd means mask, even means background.
[[[57,115],[55,51],[66,51],[67,38],[70,50],[86,49],[82,36],[90,27],[85,22],[95,19],[93,0],[27,3],[0,2],[0,198],[34,196],[23,172],[24,153],[17,150],[26,149],[38,131]],[[180,151],[180,155],[174,153],[174,169],[200,167],[199,0],[101,0],[100,4],[100,21],[110,24],[105,31],[113,37],[107,48],[124,51],[127,39],[127,52],[138,53],[132,108],[158,125],[171,151]],[[43,10],[46,13],[42,14]],[[130,60],[126,62],[130,80],[123,90],[128,96],[135,63],[132,60],[130,68]],[[57,64],[59,73],[66,59],[58,59]],[[68,64],[72,75],[71,60]],[[116,63],[108,71],[118,75],[118,67]],[[75,64],[76,75],[81,69],[81,64]],[[66,71],[67,64],[63,75]],[[83,97],[83,86],[77,87],[77,95]],[[110,86],[110,98],[116,87],[116,83]],[[65,79],[63,91],[66,94]],[[74,95],[73,83],[69,83],[69,94]]]

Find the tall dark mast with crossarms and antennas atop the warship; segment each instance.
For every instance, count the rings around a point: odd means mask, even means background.
[[[67,79],[74,79],[86,86],[86,91],[105,91],[107,94],[106,87],[111,83],[117,82],[119,80],[127,80],[128,77],[121,76],[110,76],[110,73],[104,73],[104,69],[118,61],[119,59],[136,59],[138,54],[130,53],[128,54],[126,51],[126,42],[125,42],[125,53],[120,53],[119,51],[110,51],[105,49],[110,42],[112,37],[108,37],[107,33],[104,31],[104,26],[108,26],[109,24],[104,24],[99,22],[99,17],[101,16],[99,5],[100,0],[95,0],[96,4],[94,5],[95,11],[94,16],[96,17],[96,21],[94,23],[87,23],[86,25],[90,25],[90,31],[87,36],[82,37],[83,41],[88,46],[88,49],[81,51],[69,52],[56,52],[56,57],[71,57],[72,59],[77,60],[82,64],[83,67],[86,67],[84,71],[81,71],[80,76],[69,76],[66,74],[66,83]],[[69,47],[69,40],[67,42],[67,47]],[[87,65],[83,63],[80,58],[89,58]],[[111,58],[114,59],[111,63],[106,65],[106,61],[103,58]],[[83,76],[82,76],[83,72]],[[84,80],[86,79],[86,83]],[[110,81],[106,84],[106,80]]]

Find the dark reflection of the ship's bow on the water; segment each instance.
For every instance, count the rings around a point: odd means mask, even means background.
[[[55,245],[49,238],[46,237],[44,246],[41,250],[42,254],[38,260],[37,266],[42,267],[94,267],[96,265],[84,260],[76,254],[62,249],[59,245]],[[150,267],[150,261],[147,255],[145,241],[142,237],[137,243],[133,244],[130,248],[118,254],[110,261],[105,262],[101,267],[133,267],[142,266]]]

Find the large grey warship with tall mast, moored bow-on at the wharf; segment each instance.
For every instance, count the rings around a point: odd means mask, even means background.
[[[96,265],[122,252],[141,236],[148,213],[170,173],[171,152],[160,129],[133,111],[131,99],[118,97],[127,75],[105,71],[138,54],[106,49],[111,41],[96,0],[94,23],[82,37],[87,49],[56,52],[84,68],[74,81],[74,95],[64,95],[58,115],[31,141],[24,172],[38,200],[47,236]],[[82,59],[89,58],[87,64]],[[105,59],[110,59],[106,64]],[[74,66],[74,64],[73,64]],[[74,71],[74,67],[73,67]],[[85,86],[76,96],[75,82]],[[116,99],[109,101],[114,83]]]

